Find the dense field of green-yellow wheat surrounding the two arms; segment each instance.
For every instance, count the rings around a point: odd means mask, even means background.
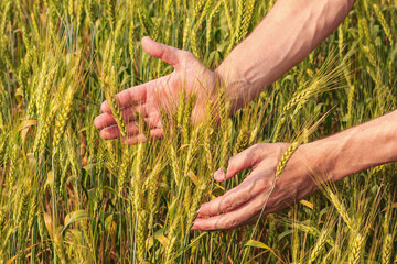
[[[196,127],[195,98],[181,92],[176,111],[162,112],[162,140],[128,146],[93,125],[107,99],[125,135],[114,95],[172,72],[142,51],[144,35],[214,69],[272,2],[1,0],[0,263],[397,263],[395,164],[245,228],[190,231],[203,201],[244,179],[213,180],[232,155],[290,142],[278,177],[300,144],[396,108],[396,2],[357,1],[232,117],[219,89]]]

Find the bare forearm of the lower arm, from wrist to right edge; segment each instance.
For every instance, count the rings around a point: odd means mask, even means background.
[[[316,173],[335,182],[397,161],[397,110],[305,146]],[[309,154],[310,153],[310,154]]]

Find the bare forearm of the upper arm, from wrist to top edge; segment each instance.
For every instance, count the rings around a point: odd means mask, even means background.
[[[308,56],[343,21],[353,3],[354,0],[278,0],[216,69],[234,107],[253,100]]]

